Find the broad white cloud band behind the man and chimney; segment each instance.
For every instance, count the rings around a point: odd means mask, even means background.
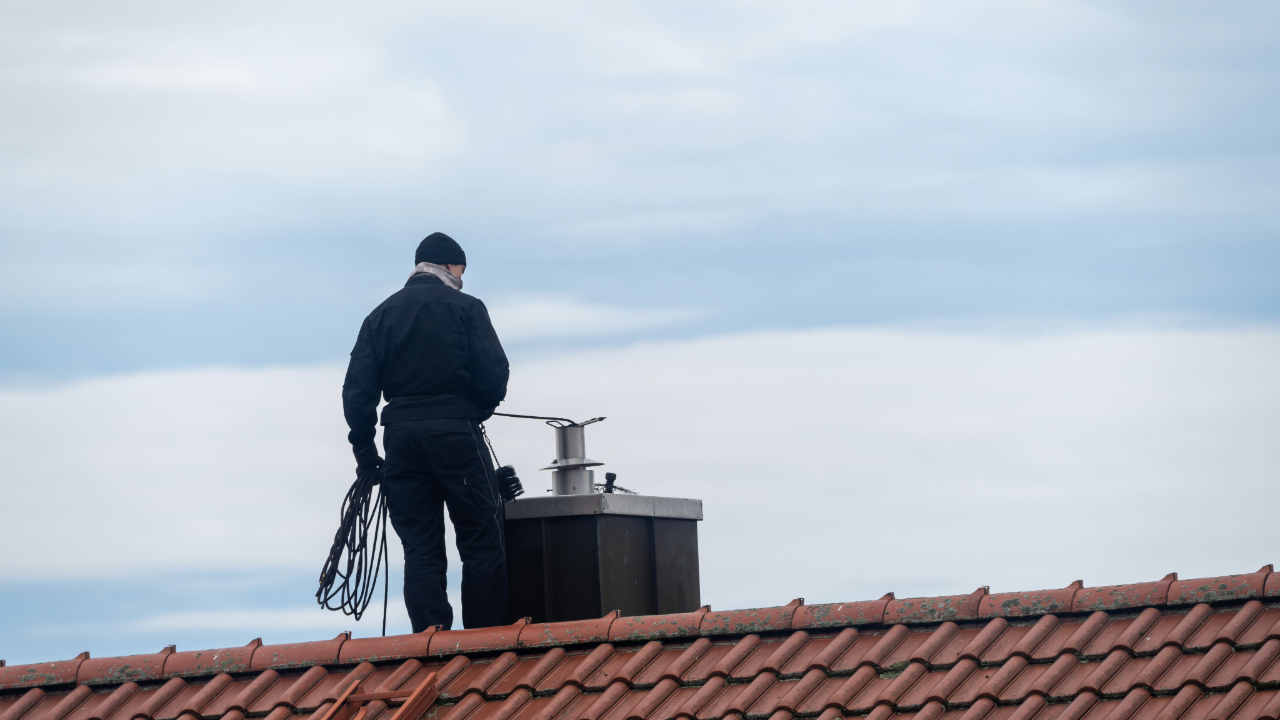
[[[713,606],[1032,589],[1280,560],[1277,356],[1276,329],[751,333],[517,365],[503,409],[607,415],[604,470],[703,498]],[[352,471],[342,372],[4,391],[0,574],[317,569]],[[550,430],[489,428],[541,493]]]

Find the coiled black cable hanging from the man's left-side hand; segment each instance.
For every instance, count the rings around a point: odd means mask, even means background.
[[[340,524],[333,537],[329,557],[320,570],[316,602],[328,610],[342,610],[360,620],[378,588],[378,571],[383,571],[383,635],[387,635],[387,601],[389,598],[390,561],[387,550],[387,496],[381,489],[374,498],[374,486],[383,479],[381,468],[369,466],[356,471],[356,482],[342,501]],[[372,542],[370,542],[370,529]],[[343,571],[346,566],[346,571]],[[337,598],[337,606],[333,605]]]

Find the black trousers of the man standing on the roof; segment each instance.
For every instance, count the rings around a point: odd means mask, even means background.
[[[383,492],[404,546],[404,606],[413,632],[453,628],[445,596],[444,507],[462,556],[462,625],[507,623],[502,500],[475,420],[408,420],[383,433]]]

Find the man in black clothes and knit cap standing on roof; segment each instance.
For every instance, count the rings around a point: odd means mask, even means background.
[[[404,287],[365,318],[342,386],[347,436],[364,470],[383,469],[392,527],[404,546],[413,632],[453,626],[445,596],[444,506],[462,556],[462,625],[507,621],[502,501],[480,423],[507,396],[507,356],[483,302],[462,292],[467,256],[429,234]],[[374,445],[383,407],[384,461]]]

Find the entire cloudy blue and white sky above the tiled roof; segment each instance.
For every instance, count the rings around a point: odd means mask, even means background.
[[[375,633],[307,605],[337,393],[433,231],[509,410],[609,415],[611,469],[705,500],[716,607],[1280,560],[1225,520],[1280,500],[1277,35],[1266,3],[0,1],[0,528],[41,548],[0,559],[0,657]],[[549,433],[493,430],[541,492]]]

